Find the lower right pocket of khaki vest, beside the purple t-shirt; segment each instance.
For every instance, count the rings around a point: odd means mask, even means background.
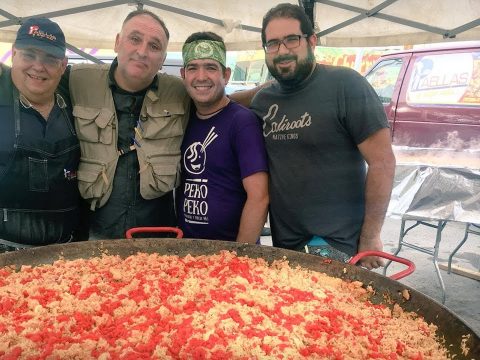
[[[154,156],[147,159],[147,168],[141,173],[144,181],[140,181],[140,193],[145,199],[154,199],[159,193],[167,193],[179,185],[179,160],[180,155]],[[142,189],[143,188],[143,189]]]

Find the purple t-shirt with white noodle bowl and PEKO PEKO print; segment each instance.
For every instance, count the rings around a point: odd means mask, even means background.
[[[242,179],[268,169],[255,114],[230,102],[209,119],[193,115],[181,161],[177,209],[184,237],[235,240],[247,198]]]

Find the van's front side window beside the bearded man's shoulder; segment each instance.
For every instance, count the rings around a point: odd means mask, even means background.
[[[379,62],[367,75],[366,79],[372,85],[383,104],[392,101],[393,90],[398,74],[402,68],[403,59],[388,59]]]

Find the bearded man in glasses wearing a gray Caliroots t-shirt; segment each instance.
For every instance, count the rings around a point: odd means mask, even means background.
[[[345,261],[382,250],[395,157],[377,95],[357,72],[316,64],[317,37],[297,5],[265,15],[262,41],[277,81],[251,108],[263,120],[273,245]]]

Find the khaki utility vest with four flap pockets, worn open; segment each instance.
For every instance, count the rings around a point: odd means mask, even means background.
[[[75,65],[70,71],[70,96],[81,158],[77,172],[80,194],[91,209],[110,197],[121,154],[118,119],[108,72],[110,65]],[[140,165],[140,194],[155,199],[180,182],[180,146],[189,117],[190,98],[181,79],[158,74],[158,89],[143,101],[135,148]]]

